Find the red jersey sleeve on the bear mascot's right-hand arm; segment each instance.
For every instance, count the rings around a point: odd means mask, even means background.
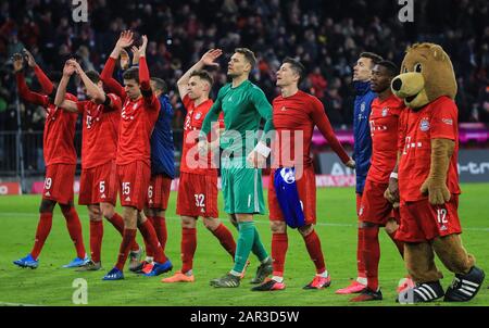
[[[456,140],[457,116],[459,110],[451,99],[440,102],[431,115],[431,139]]]

